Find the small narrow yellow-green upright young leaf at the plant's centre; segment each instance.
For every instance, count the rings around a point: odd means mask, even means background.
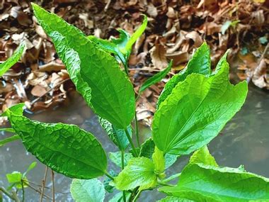
[[[165,160],[164,153],[161,152],[158,147],[155,147],[154,153],[152,155],[152,160],[155,166],[154,172],[159,177],[159,179],[164,179],[166,174],[164,173]]]

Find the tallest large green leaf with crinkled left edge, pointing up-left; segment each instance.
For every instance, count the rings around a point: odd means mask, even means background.
[[[81,30],[38,5],[32,5],[38,23],[52,38],[59,57],[86,102],[116,127],[127,128],[135,115],[135,92],[115,58],[88,40]]]

